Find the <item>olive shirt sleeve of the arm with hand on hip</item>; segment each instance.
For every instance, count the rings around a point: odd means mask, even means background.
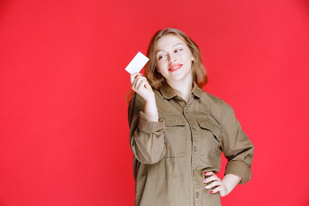
[[[230,105],[228,107],[221,135],[223,153],[228,159],[224,174],[237,175],[241,177],[239,184],[244,184],[251,178],[250,167],[254,146],[248,136],[242,131]]]

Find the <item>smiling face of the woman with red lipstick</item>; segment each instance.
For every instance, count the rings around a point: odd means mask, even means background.
[[[155,43],[157,70],[166,82],[192,82],[193,55],[186,42],[174,35],[166,35]]]

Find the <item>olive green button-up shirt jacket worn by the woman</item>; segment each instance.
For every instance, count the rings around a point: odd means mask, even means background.
[[[135,206],[220,206],[220,194],[205,189],[204,171],[251,178],[254,146],[231,106],[194,82],[187,104],[165,83],[154,90],[158,122],[143,113],[144,99],[134,94],[128,108],[134,154]]]

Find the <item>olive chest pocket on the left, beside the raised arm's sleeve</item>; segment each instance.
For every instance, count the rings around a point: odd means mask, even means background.
[[[186,119],[180,115],[166,115],[166,128],[164,143],[166,147],[165,158],[182,158],[186,155]]]

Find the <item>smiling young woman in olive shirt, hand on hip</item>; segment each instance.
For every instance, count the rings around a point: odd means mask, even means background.
[[[145,77],[130,77],[135,206],[220,206],[220,196],[251,178],[254,146],[230,105],[201,89],[207,76],[186,34],[158,31],[147,55]]]

